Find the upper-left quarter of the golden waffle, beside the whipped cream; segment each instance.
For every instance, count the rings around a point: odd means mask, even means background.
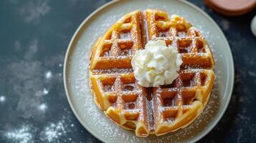
[[[100,39],[92,69],[131,68],[132,55],[141,49],[140,13],[124,16]]]

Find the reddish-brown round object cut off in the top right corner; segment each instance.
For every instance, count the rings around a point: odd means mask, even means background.
[[[256,0],[204,0],[204,3],[226,16],[240,16],[256,6]]]

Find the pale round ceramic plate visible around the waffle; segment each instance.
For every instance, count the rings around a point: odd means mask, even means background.
[[[136,9],[162,9],[179,14],[202,31],[214,53],[217,79],[204,112],[185,129],[161,137],[138,138],[111,122],[96,107],[88,81],[89,53],[96,39],[121,16]],[[67,49],[64,66],[67,99],[72,111],[91,134],[103,142],[196,142],[221,119],[232,95],[234,65],[229,44],[219,26],[193,4],[176,0],[111,1],[90,14],[78,27]]]

